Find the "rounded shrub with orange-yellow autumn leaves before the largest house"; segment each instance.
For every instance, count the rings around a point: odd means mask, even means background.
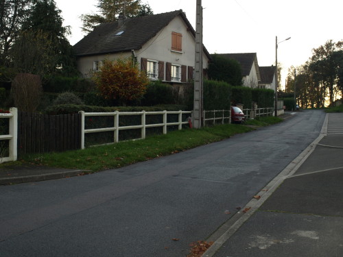
[[[93,79],[102,97],[117,99],[123,106],[128,101],[141,99],[149,84],[147,75],[139,70],[131,58],[104,60]]]

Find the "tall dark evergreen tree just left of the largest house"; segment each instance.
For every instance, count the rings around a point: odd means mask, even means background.
[[[48,74],[58,72],[64,75],[76,73],[75,58],[67,40],[67,36],[71,33],[70,27],[62,25],[63,19],[60,14],[61,11],[56,7],[54,0],[34,0],[29,16],[23,23],[23,33],[18,40],[20,47],[14,47],[16,50],[14,56],[19,57],[21,51],[27,52],[27,49],[32,48],[32,45],[25,45],[23,42],[36,35],[38,40],[33,41],[34,44],[37,43],[34,45],[36,53],[41,53],[43,60],[47,60],[44,58],[47,53],[50,57],[45,64],[49,69],[45,69],[45,72]],[[42,38],[46,38],[46,44],[39,40]]]

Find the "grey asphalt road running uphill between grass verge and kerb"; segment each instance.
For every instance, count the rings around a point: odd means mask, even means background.
[[[0,256],[187,256],[318,137],[324,117],[296,112],[122,169],[0,186]]]

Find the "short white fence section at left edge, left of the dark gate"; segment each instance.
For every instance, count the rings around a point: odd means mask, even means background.
[[[1,141],[5,140],[9,141],[8,147],[0,148],[0,163],[14,161],[17,158],[18,110],[16,108],[10,108],[10,113],[0,113],[0,119],[8,119],[9,123],[8,134],[0,134],[0,143],[3,143]],[[6,154],[7,156],[3,156],[5,153],[8,153]]]

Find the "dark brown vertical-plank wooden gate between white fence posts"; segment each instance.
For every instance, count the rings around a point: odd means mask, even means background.
[[[19,112],[19,156],[80,147],[81,114],[44,115]]]

